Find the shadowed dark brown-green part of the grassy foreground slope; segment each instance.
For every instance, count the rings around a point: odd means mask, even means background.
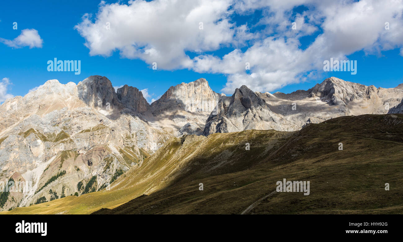
[[[402,134],[403,115],[361,115],[307,125],[264,156],[258,155],[264,146],[254,143],[260,140],[256,137],[239,160],[251,162],[246,169],[189,174],[156,193],[98,213],[239,214],[247,208],[246,213],[256,214],[403,213]],[[277,193],[276,181],[283,178],[310,181],[310,195]]]

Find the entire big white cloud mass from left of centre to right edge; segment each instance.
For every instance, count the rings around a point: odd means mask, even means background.
[[[262,12],[256,24],[236,23],[235,15],[255,10]],[[85,14],[75,28],[90,55],[119,51],[122,57],[156,62],[165,70],[225,74],[222,91],[232,94],[242,84],[264,92],[316,78],[331,57],[400,49],[402,12],[401,1],[376,0],[102,1],[96,16]],[[302,47],[304,36],[313,41]],[[230,51],[215,52],[223,47]]]

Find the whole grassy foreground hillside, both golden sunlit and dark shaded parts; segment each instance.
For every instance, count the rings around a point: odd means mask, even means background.
[[[110,191],[3,213],[403,213],[402,171],[403,115],[339,117],[173,138]],[[274,192],[283,178],[309,180],[310,195]]]

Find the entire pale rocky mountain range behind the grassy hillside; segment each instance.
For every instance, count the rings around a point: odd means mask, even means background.
[[[241,86],[225,96],[200,78],[170,87],[150,105],[139,89],[125,85],[115,91],[103,76],[90,76],[77,85],[48,80],[0,106],[0,181],[32,182],[27,193],[2,194],[0,208],[116,187],[120,176],[144,169],[145,160],[173,155],[174,149],[167,148],[173,141],[218,139],[220,134],[211,135],[252,129],[273,129],[288,137],[312,123],[387,113],[403,113],[402,84],[376,88],[331,77],[290,94]],[[220,166],[215,164],[210,172]],[[166,172],[175,174],[180,165],[169,167]],[[154,183],[142,192],[158,187]]]

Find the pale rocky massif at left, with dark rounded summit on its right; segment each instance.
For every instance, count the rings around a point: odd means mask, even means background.
[[[108,78],[90,76],[78,85],[49,80],[2,103],[0,182],[12,176],[32,187],[13,193],[0,210],[81,194],[77,183],[85,186],[94,176],[91,191],[98,190],[115,174],[141,165],[170,134],[138,117],[143,97],[137,94],[128,88],[121,101]],[[48,182],[60,172],[65,173]]]

